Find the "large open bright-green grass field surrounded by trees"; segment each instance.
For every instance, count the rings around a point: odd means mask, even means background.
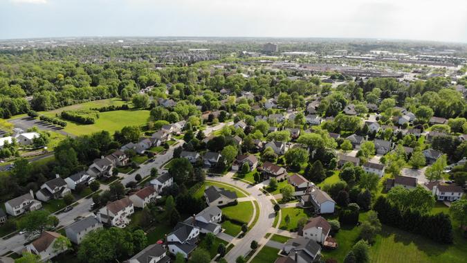
[[[51,111],[48,111],[48,113],[50,112]],[[55,116],[55,114],[45,115]],[[143,125],[147,122],[147,118],[149,118],[149,111],[147,110],[130,109],[127,111],[107,111],[101,112],[99,118],[91,125],[82,125],[67,121],[68,124],[63,131],[74,135],[84,135],[104,130],[113,134],[115,131],[119,131],[125,126]]]

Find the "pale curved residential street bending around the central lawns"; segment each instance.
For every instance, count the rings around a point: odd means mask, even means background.
[[[260,209],[257,224],[255,224],[255,226],[253,226],[253,228],[251,228],[244,237],[238,239],[237,242],[235,242],[235,240],[232,242],[235,244],[235,246],[224,257],[227,262],[235,262],[237,257],[240,255],[246,257],[246,255],[248,255],[248,253],[251,251],[251,242],[253,240],[256,240],[257,242],[261,241],[264,235],[271,231],[271,227],[273,226],[275,218],[273,203],[271,203],[271,199],[273,199],[273,197],[263,194],[263,192],[259,190],[261,184],[252,186],[248,183],[232,179],[232,175],[233,174],[229,172],[225,176],[210,177],[209,180],[228,183],[248,192],[250,197],[253,197],[253,199],[258,202]]]

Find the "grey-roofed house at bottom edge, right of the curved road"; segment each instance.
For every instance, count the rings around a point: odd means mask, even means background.
[[[318,262],[321,257],[321,246],[313,239],[305,237],[289,239],[282,250],[295,263]]]

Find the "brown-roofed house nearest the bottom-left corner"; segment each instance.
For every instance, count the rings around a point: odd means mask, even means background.
[[[67,249],[57,249],[53,246],[59,237],[63,236],[56,232],[44,231],[40,237],[26,246],[26,251],[39,255],[42,262],[47,262]]]

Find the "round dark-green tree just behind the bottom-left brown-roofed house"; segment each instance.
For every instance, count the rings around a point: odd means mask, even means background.
[[[17,221],[17,229],[26,231],[26,238],[36,237],[54,226],[54,217],[46,210],[30,211]]]

